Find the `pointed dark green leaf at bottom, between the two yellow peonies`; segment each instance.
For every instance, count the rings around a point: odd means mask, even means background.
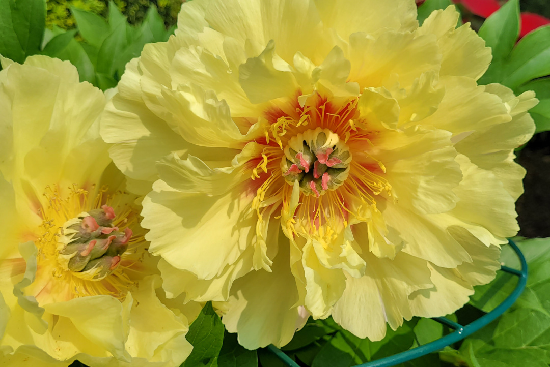
[[[214,312],[212,303],[206,303],[199,316],[189,326],[186,339],[193,345],[193,352],[182,367],[216,365],[216,357],[222,348],[223,334],[222,320]]]

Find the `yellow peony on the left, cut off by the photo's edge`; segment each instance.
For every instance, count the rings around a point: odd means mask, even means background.
[[[188,320],[157,295],[141,208],[99,136],[103,93],[68,61],[2,61],[0,364],[179,366]]]

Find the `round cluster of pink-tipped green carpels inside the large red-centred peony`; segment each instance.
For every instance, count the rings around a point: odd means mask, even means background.
[[[304,194],[318,197],[344,183],[350,162],[349,148],[338,134],[317,127],[290,138],[281,171],[289,184],[298,180]]]

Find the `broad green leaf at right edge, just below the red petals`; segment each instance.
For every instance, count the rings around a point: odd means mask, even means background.
[[[515,89],[535,78],[550,75],[550,26],[521,39],[504,65],[502,84]]]

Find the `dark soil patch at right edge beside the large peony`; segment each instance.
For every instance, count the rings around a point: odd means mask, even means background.
[[[525,193],[516,206],[519,235],[550,237],[550,132],[536,134],[518,152],[518,161],[527,170]]]

